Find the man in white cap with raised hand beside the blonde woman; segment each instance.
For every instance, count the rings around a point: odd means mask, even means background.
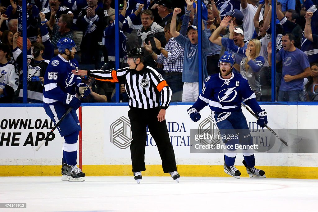
[[[211,37],[209,40],[212,43],[218,44],[218,45],[223,45],[225,47],[225,50],[232,53],[233,59],[235,64],[233,65],[233,72],[239,73],[239,64],[242,61],[242,56],[237,54],[237,52],[231,51],[229,49],[229,38],[221,38],[219,37],[220,32],[222,31],[223,28],[227,27],[231,21],[232,17],[231,16],[226,16],[220,23],[220,26],[214,30],[212,33]],[[242,29],[235,27],[234,28],[234,35],[233,35],[233,41],[234,44],[239,46],[240,48],[246,49],[247,45],[244,43],[244,32]]]

